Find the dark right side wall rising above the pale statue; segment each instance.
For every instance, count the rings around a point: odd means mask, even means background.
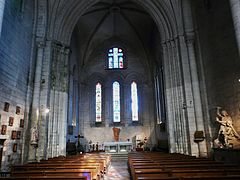
[[[194,1],[200,52],[210,115],[212,138],[216,138],[216,107],[225,108],[240,131],[239,86],[240,61],[229,1]],[[203,86],[202,86],[203,88]],[[204,91],[204,88],[202,89]]]

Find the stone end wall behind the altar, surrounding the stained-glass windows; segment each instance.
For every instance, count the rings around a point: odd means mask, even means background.
[[[114,43],[113,43],[114,44]],[[120,141],[132,140],[135,136],[139,136],[142,140],[147,137],[150,146],[156,143],[155,136],[155,119],[154,119],[154,101],[153,101],[153,83],[151,82],[149,69],[142,63],[146,61],[141,50],[139,52],[133,50],[134,48],[127,46],[126,44],[117,43],[119,47],[124,47],[124,53],[126,53],[127,68],[122,70],[106,70],[106,50],[109,48],[107,45],[94,51],[86,61],[84,66],[80,66],[79,74],[75,74],[73,77],[75,81],[77,80],[77,85],[79,91],[77,98],[79,100],[78,106],[79,112],[77,115],[77,129],[79,128],[79,134],[84,136],[81,139],[81,143],[86,145],[86,150],[88,142],[91,140],[94,144],[99,143],[99,145],[104,142],[114,141],[112,127],[114,123],[112,122],[112,82],[117,80],[120,82],[121,86],[121,121],[123,124],[117,125],[121,129]],[[78,51],[76,45],[71,47],[72,54],[71,59],[81,58],[77,55]],[[135,48],[141,49],[141,48]],[[75,60],[76,61],[76,60]],[[74,59],[72,59],[74,63]],[[72,66],[72,65],[70,65]],[[103,120],[102,124],[95,124],[95,86],[98,80],[103,86]],[[131,105],[130,105],[130,84],[135,80],[138,87],[139,96],[139,123],[133,124],[131,121]],[[73,93],[73,90],[72,92]],[[72,95],[70,95],[72,96]],[[72,107],[75,108],[75,107]],[[76,112],[71,112],[76,113]],[[69,120],[71,121],[71,119]],[[76,132],[73,132],[76,133]],[[74,136],[68,133],[68,139],[74,141]]]

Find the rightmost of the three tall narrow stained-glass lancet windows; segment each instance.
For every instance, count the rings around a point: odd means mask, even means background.
[[[132,107],[132,121],[138,121],[138,94],[137,83],[131,84],[131,107]]]

